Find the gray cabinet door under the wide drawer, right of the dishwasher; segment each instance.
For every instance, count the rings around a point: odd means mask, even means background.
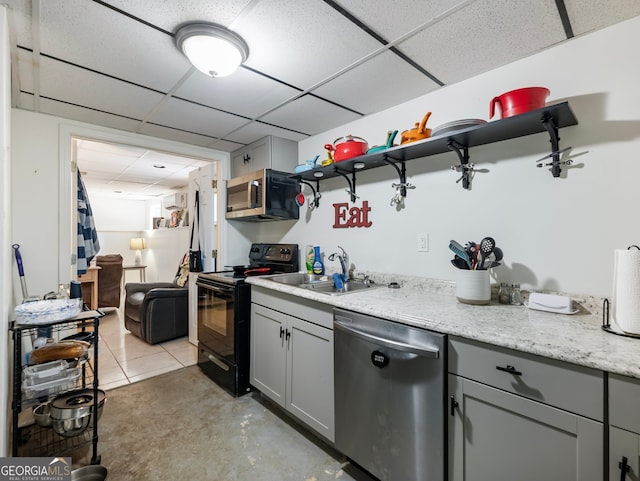
[[[449,376],[449,479],[601,481],[602,423]]]

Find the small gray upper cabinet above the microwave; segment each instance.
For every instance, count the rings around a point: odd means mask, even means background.
[[[231,177],[261,169],[293,172],[297,163],[297,142],[268,135],[231,153]]]

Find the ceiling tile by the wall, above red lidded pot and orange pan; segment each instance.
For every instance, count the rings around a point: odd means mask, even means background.
[[[400,86],[398,79],[402,79]],[[368,115],[437,88],[435,82],[400,57],[384,52],[313,93]]]

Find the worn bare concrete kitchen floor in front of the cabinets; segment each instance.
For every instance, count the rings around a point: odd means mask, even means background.
[[[89,464],[83,450],[74,467]],[[371,481],[259,394],[233,398],[197,366],[109,390],[98,453],[109,481]]]

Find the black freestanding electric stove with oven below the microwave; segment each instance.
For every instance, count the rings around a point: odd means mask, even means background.
[[[297,271],[297,244],[252,244],[249,265],[198,274],[198,365],[233,396],[251,390],[251,284],[246,277]]]

